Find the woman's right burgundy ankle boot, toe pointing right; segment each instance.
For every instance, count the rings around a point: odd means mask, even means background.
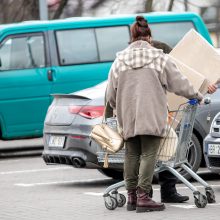
[[[163,203],[153,201],[143,189],[138,188],[136,212],[162,211],[164,209]]]

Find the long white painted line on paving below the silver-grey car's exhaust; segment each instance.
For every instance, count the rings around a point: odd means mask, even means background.
[[[40,182],[40,183],[15,183],[15,186],[20,187],[34,187],[34,186],[43,186],[43,185],[57,185],[57,184],[78,184],[78,183],[93,183],[95,181],[106,181],[110,178],[97,178],[97,179],[86,179],[86,180],[68,180],[68,181],[54,181],[54,182]]]

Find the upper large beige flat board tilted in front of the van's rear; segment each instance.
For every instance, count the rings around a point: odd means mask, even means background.
[[[220,78],[219,53],[194,29],[186,33],[170,55],[199,72],[211,83]]]

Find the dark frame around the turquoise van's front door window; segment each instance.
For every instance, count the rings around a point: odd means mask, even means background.
[[[31,33],[21,33],[21,34],[10,34],[7,35],[5,38],[2,39],[2,41],[0,42],[0,48],[1,46],[9,39],[13,39],[13,38],[24,38],[24,37],[35,37],[35,36],[42,36],[43,37],[43,41],[44,41],[44,57],[45,57],[45,66],[44,67],[32,67],[32,68],[20,68],[20,69],[8,69],[8,70],[1,70],[0,72],[3,71],[14,71],[14,70],[30,70],[30,69],[41,69],[41,68],[45,68],[49,65],[48,61],[48,53],[47,53],[47,40],[46,40],[46,36],[45,36],[45,32],[40,31],[40,32],[31,32]]]

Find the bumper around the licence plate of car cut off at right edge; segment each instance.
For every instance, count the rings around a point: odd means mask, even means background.
[[[213,138],[210,134],[206,136],[203,142],[203,151],[206,161],[207,168],[213,173],[220,174],[220,155],[213,156],[208,155],[208,145],[209,144],[220,144],[220,138]]]

